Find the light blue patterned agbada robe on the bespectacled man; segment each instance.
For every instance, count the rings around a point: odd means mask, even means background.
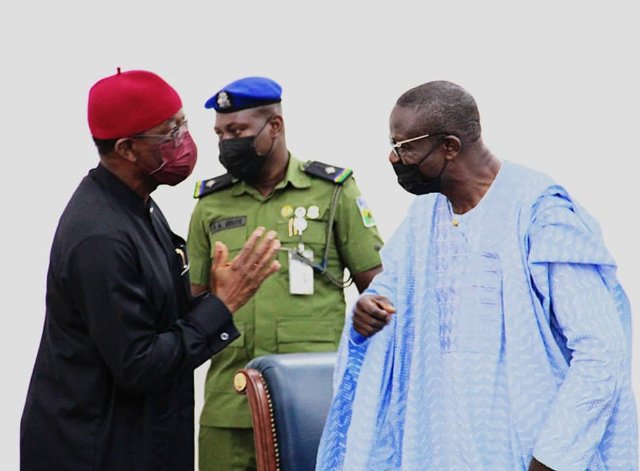
[[[462,216],[417,197],[382,256],[397,313],[347,319],[318,471],[638,468],[629,303],[562,187],[503,162]]]

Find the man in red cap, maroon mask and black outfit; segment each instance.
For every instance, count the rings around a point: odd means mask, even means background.
[[[189,176],[197,149],[176,91],[120,72],[89,92],[100,162],[65,208],[21,421],[22,471],[193,471],[193,370],[239,336],[232,315],[279,269],[254,231],[215,285],[189,293],[184,240],[150,197]],[[218,260],[219,259],[219,260]]]

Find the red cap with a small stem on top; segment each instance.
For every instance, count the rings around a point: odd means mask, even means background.
[[[118,68],[89,90],[89,129],[96,139],[132,136],[161,124],[180,108],[180,96],[158,75]]]

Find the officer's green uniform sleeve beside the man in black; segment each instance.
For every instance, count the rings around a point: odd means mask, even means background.
[[[202,201],[198,201],[189,221],[187,252],[190,261],[191,283],[208,286],[209,271],[211,270],[211,240],[204,214]]]

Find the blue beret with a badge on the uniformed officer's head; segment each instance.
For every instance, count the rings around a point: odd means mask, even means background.
[[[207,100],[205,108],[234,113],[248,108],[280,103],[282,87],[266,77],[245,77],[222,88]]]

